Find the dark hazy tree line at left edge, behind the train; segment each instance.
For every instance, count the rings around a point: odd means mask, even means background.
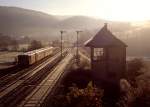
[[[41,41],[31,40],[28,36],[14,38],[0,33],[0,39],[0,51],[18,51],[20,44],[29,44],[28,49],[22,48],[22,51],[31,51],[43,47]]]

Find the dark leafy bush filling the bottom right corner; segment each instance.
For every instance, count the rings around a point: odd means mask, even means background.
[[[125,91],[121,89],[119,107],[150,107],[150,82],[140,80],[136,88],[127,83],[127,81],[121,83],[120,85],[124,84],[126,89]]]

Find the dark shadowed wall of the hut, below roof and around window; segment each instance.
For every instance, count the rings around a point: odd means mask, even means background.
[[[126,70],[126,48],[105,48],[105,60],[92,60],[93,75],[96,80],[117,82]]]

